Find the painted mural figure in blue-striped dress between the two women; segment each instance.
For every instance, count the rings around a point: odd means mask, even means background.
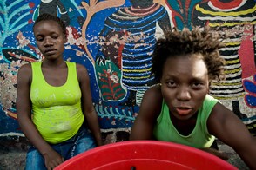
[[[96,71],[99,76],[102,71],[97,67],[102,67],[106,61],[118,67],[122,88],[127,89],[124,102],[119,100],[122,105],[139,105],[145,90],[155,83],[150,69],[156,32],[157,29],[170,28],[171,21],[165,7],[152,0],[131,0],[131,7],[121,8],[105,19]],[[98,81],[98,85],[101,88],[103,83]],[[101,90],[104,94],[104,89]],[[104,95],[102,97],[104,101],[111,101]]]

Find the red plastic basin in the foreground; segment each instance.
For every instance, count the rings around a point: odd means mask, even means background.
[[[237,169],[194,147],[166,141],[122,141],[93,148],[56,170]]]

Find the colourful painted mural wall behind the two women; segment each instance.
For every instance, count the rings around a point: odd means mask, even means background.
[[[48,2],[48,3],[46,3]],[[82,63],[102,131],[124,131],[127,138],[145,90],[153,77],[152,50],[163,29],[208,24],[229,35],[225,82],[211,94],[232,109],[252,134],[256,127],[256,4],[254,0],[155,0],[136,9],[129,0],[1,0],[0,2],[0,136],[24,136],[17,124],[17,70],[42,60],[32,25],[40,13],[60,16],[68,25],[64,59]],[[141,0],[141,5],[149,0]],[[152,99],[153,100],[153,99]],[[16,138],[17,139],[17,138]],[[117,141],[117,135],[109,141]]]

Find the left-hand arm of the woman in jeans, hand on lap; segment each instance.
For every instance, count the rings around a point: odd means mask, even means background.
[[[47,168],[57,167],[64,160],[44,141],[31,120],[30,84],[32,72],[30,64],[22,66],[17,74],[17,121],[28,140],[44,156]]]

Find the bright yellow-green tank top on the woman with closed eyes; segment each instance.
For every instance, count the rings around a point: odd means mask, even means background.
[[[32,120],[45,141],[57,144],[77,134],[84,122],[76,63],[66,62],[67,81],[59,87],[51,86],[45,81],[41,64],[42,62],[31,63]]]

